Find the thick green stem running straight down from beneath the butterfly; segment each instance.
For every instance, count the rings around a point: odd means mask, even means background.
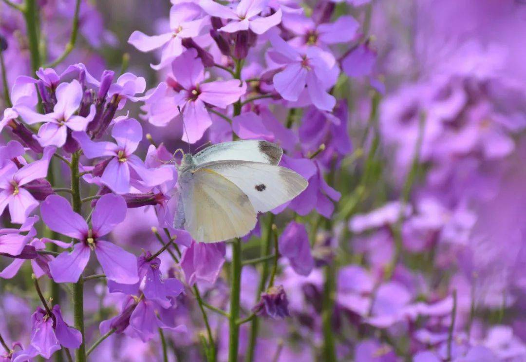
[[[232,243],[232,279],[230,292],[230,320],[228,339],[228,362],[236,362],[239,347],[239,296],[241,288],[241,239]]]

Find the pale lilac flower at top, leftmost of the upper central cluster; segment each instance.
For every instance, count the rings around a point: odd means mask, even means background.
[[[201,17],[203,11],[193,3],[176,4],[170,8],[170,32],[148,36],[142,32],[131,33],[128,43],[141,52],[150,52],[163,47],[161,61],[158,65],[151,65],[154,69],[163,68],[184,52],[184,38],[199,35],[201,29],[208,22],[208,17]]]

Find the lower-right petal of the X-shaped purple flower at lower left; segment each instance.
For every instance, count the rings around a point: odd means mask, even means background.
[[[97,240],[95,255],[109,280],[122,284],[134,284],[139,280],[137,258],[123,248]]]

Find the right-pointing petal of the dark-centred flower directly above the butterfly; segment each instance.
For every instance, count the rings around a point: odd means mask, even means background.
[[[216,107],[226,108],[246,93],[247,84],[232,79],[231,81],[203,83],[200,89],[200,100]]]

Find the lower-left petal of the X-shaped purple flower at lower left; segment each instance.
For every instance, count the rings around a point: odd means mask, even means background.
[[[89,262],[89,247],[83,242],[73,246],[73,252],[64,252],[49,262],[49,271],[56,283],[77,283]]]

